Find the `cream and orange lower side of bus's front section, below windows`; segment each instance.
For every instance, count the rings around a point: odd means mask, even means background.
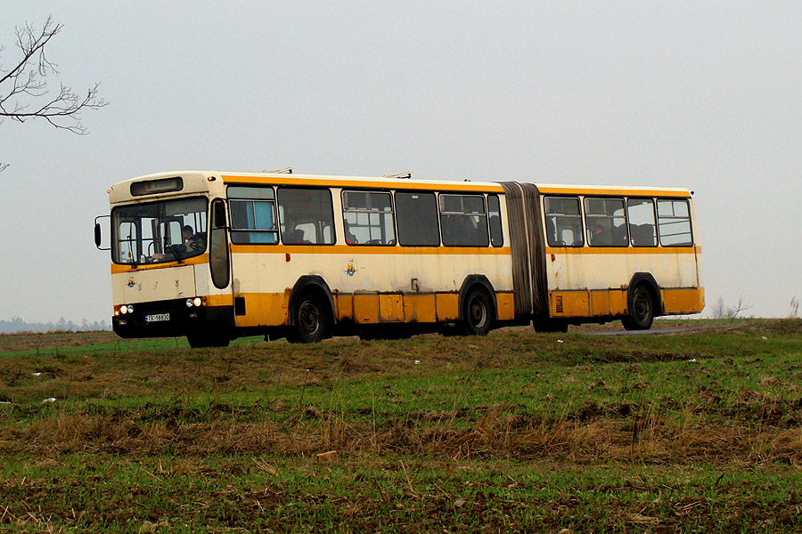
[[[244,298],[245,312],[237,326],[287,324],[289,292],[307,274],[331,289],[337,320],[358,324],[457,320],[462,282],[474,274],[486,276],[497,292],[500,320],[514,313],[509,247],[237,248],[233,296]]]

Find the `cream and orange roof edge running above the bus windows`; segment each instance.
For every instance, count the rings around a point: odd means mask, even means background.
[[[180,191],[151,194],[147,197],[133,196],[131,184],[181,177],[184,187]],[[217,179],[219,178],[219,182]],[[167,173],[146,174],[114,184],[109,190],[111,204],[126,202],[132,199],[150,200],[162,197],[174,197],[192,192],[206,192],[219,189],[226,183],[270,183],[275,185],[320,185],[329,187],[371,187],[395,190],[454,190],[454,191],[486,191],[503,192],[502,182],[515,180],[498,180],[482,182],[457,182],[446,180],[414,180],[407,178],[346,176],[325,174],[288,174],[288,173],[233,173],[221,171],[175,171]],[[529,182],[529,181],[517,181]],[[643,197],[690,197],[692,191],[683,188],[638,187],[620,185],[576,185],[556,183],[535,183],[537,189],[544,194],[560,195],[627,195]]]

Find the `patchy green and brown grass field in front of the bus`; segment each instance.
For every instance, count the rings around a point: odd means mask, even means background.
[[[802,532],[802,320],[677,326],[0,336],[0,530]]]

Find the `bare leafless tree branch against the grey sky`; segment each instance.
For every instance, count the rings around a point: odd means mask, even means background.
[[[10,69],[0,65],[0,124],[5,118],[24,123],[30,118],[43,118],[60,130],[84,135],[89,131],[81,120],[86,109],[99,109],[107,105],[98,94],[99,84],[94,84],[86,93],[74,92],[68,85],[60,84],[57,94],[49,95],[45,77],[59,74],[58,65],[47,59],[45,46],[57,36],[63,26],[48,17],[39,32],[26,23],[17,28],[16,47],[21,57]],[[0,46],[0,53],[5,50]],[[0,163],[0,172],[7,165]]]

